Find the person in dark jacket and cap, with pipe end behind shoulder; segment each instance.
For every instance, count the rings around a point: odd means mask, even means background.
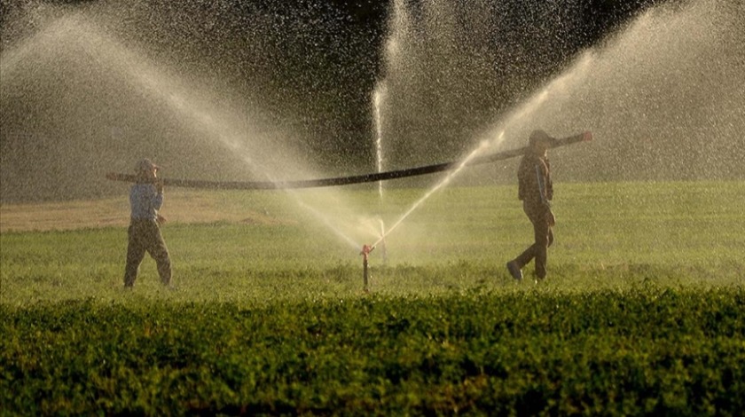
[[[548,248],[553,244],[553,226],[556,218],[551,210],[553,183],[551,166],[548,162],[548,149],[560,146],[569,140],[592,140],[592,133],[584,132],[577,137],[557,140],[543,130],[533,130],[529,146],[520,161],[517,171],[518,199],[522,209],[533,224],[534,242],[520,256],[509,261],[507,271],[514,279],[522,279],[522,268],[535,259],[536,282],[545,279]]]

